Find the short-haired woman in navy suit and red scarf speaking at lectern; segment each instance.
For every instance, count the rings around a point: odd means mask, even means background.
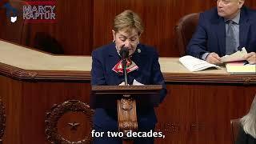
[[[158,63],[158,53],[139,42],[144,27],[142,19],[132,10],[125,10],[114,18],[113,42],[92,52],[91,86],[124,85],[120,51],[126,48],[127,83],[129,85],[162,85],[160,101],[166,96],[166,85]],[[138,131],[154,130],[157,118],[154,107],[137,106]],[[94,143],[122,143],[122,138],[106,137],[107,131],[118,131],[117,107],[96,108],[94,130],[104,132],[103,137],[94,137]],[[134,138],[135,143],[154,143],[154,138]]]

